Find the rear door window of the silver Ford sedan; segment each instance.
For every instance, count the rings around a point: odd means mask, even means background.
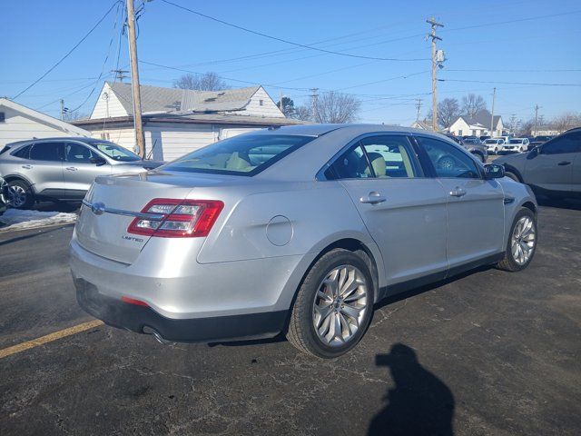
[[[361,140],[376,177],[422,177],[405,136],[371,136]]]

